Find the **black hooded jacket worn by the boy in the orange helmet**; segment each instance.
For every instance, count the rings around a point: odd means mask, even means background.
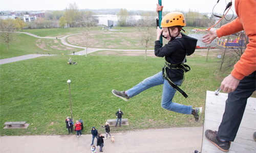
[[[181,33],[182,37],[177,37],[173,41],[169,41],[163,47],[160,41],[155,41],[155,55],[157,57],[165,57],[170,64],[182,64],[186,55],[195,52],[197,39],[188,37]],[[164,72],[164,68],[162,69]],[[175,82],[183,79],[184,71],[182,69],[167,69],[167,77]]]

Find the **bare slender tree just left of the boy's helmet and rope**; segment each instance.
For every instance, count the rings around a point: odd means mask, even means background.
[[[148,47],[152,46],[154,42],[155,34],[155,12],[146,12],[141,14],[142,18],[137,21],[137,29],[139,31],[140,37],[139,41],[142,46],[145,47],[145,60],[146,60],[146,50]]]

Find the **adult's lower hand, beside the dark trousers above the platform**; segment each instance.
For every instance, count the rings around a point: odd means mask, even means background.
[[[221,90],[224,92],[233,92],[239,84],[240,80],[229,74],[221,83]]]

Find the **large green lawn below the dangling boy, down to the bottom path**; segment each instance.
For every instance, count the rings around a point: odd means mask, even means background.
[[[130,126],[111,127],[112,132],[166,127],[202,126],[193,115],[161,108],[162,85],[150,88],[124,101],[111,92],[127,90],[161,71],[163,58],[143,56],[74,56],[77,65],[67,64],[69,56],[39,57],[1,65],[1,136],[67,134],[65,119],[70,116],[69,85],[73,119],[82,118],[89,134],[92,126],[99,132],[107,119],[115,118],[118,108]],[[220,59],[194,55],[187,58],[191,71],[185,74],[182,89],[174,101],[203,107],[206,90],[219,88],[229,72],[219,72]],[[203,117],[202,117],[203,118]],[[27,121],[28,129],[3,129],[6,121]],[[31,124],[33,123],[33,124]]]

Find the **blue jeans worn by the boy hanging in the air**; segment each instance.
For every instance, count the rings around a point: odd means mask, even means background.
[[[180,86],[182,83],[182,80],[173,82],[177,86]],[[176,90],[171,87],[167,80],[163,78],[163,72],[159,72],[152,77],[149,77],[142,82],[140,82],[138,85],[134,86],[133,88],[125,91],[127,96],[130,98],[136,96],[137,94],[141,93],[142,91],[158,86],[163,84],[163,94],[162,94],[162,103],[161,106],[169,111],[182,113],[182,114],[191,114],[192,113],[192,106],[185,106],[177,103],[173,103],[173,97],[175,95]]]

